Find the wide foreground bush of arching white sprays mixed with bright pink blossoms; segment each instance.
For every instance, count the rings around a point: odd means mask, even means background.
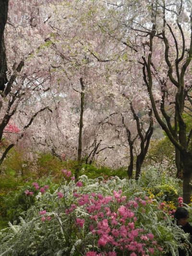
[[[19,225],[0,232],[4,256],[176,255],[187,234],[172,224],[160,201],[150,199],[142,182],[112,177],[75,184],[70,172],[60,186],[25,193],[34,204]],[[36,194],[30,195],[33,189]],[[180,244],[180,245],[179,245]]]

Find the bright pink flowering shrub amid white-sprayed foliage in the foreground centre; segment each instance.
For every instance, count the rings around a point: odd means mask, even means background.
[[[89,216],[88,219],[76,219],[77,224],[81,228],[86,224],[84,228],[92,233],[101,255],[161,255],[163,248],[154,234],[140,228],[137,220],[137,212],[150,205],[151,200],[141,197],[127,200],[121,190],[106,196],[82,194],[76,200]],[[91,251],[86,255],[99,255],[96,253]]]

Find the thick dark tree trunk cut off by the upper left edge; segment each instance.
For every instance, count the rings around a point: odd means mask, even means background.
[[[8,16],[9,0],[0,0],[0,91],[4,91],[7,81],[7,59],[4,42],[4,30]]]

